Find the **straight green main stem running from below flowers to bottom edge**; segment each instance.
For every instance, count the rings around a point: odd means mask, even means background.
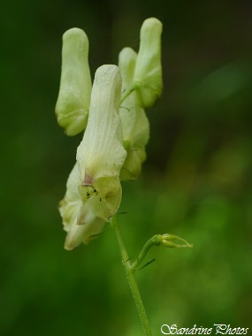
[[[141,294],[139,292],[136,280],[134,278],[134,270],[131,268],[131,263],[129,261],[129,257],[128,254],[126,252],[126,247],[124,244],[124,241],[122,239],[122,235],[121,235],[121,231],[120,231],[120,227],[119,227],[119,222],[118,222],[118,215],[115,215],[112,218],[112,225],[115,229],[116,235],[117,235],[117,239],[118,239],[118,245],[121,251],[121,255],[123,258],[123,264],[125,266],[125,270],[126,270],[126,278],[128,280],[131,292],[133,294],[134,297],[134,302],[139,314],[139,317],[141,319],[141,325],[143,327],[143,330],[145,332],[146,336],[151,336],[151,330],[149,328],[149,321],[143,306],[143,303],[141,301]]]

